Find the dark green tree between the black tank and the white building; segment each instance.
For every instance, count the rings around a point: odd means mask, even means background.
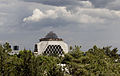
[[[20,76],[32,76],[33,72],[33,63],[32,59],[34,58],[33,53],[30,50],[20,51],[17,55],[21,61],[21,64],[17,66],[18,71],[20,72]]]

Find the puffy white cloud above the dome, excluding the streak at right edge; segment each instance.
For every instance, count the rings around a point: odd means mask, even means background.
[[[88,9],[89,10],[89,9]],[[85,10],[77,10],[77,12],[67,10],[66,7],[56,7],[54,10],[46,10],[45,12],[35,9],[33,15],[23,19],[24,22],[32,21],[39,22],[42,19],[57,19],[61,18],[65,21],[76,23],[103,23],[104,19],[94,17],[89,14],[84,14]]]

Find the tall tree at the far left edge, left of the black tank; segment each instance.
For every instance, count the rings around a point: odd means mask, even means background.
[[[0,75],[6,76],[10,72],[9,52],[12,50],[9,48],[9,43],[0,45]]]

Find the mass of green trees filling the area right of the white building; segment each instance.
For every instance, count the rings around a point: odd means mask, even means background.
[[[65,55],[63,63],[67,64],[66,68],[72,76],[119,76],[120,63],[114,62],[117,58],[116,48],[107,48],[106,53],[105,48],[93,46],[84,53],[77,46]]]

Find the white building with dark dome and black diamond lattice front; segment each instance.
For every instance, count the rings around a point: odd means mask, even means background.
[[[52,31],[44,38],[41,38],[34,47],[35,55],[57,54],[61,56],[64,53],[68,53],[68,45]]]

